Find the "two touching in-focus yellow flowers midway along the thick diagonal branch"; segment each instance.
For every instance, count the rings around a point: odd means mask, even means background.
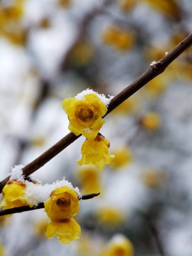
[[[62,106],[70,121],[68,129],[76,136],[82,134],[86,138],[81,148],[82,159],[77,164],[94,165],[103,170],[105,164],[114,158],[109,153],[109,141],[98,133],[105,123],[102,116],[106,114],[107,107],[95,92],[85,94],[83,100],[67,98]]]

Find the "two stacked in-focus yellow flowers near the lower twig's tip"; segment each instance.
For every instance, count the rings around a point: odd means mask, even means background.
[[[56,188],[44,206],[45,212],[52,220],[47,226],[46,238],[56,235],[61,244],[69,244],[79,238],[81,228],[72,218],[79,211],[79,198],[73,188]]]

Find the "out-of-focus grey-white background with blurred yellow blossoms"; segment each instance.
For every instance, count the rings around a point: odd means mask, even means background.
[[[1,0],[0,179],[68,133],[64,98],[116,95],[190,33],[191,11],[191,0]],[[124,236],[135,256],[191,256],[191,81],[189,48],[105,118],[116,157],[103,171],[77,165],[83,137],[36,171],[101,192],[80,201],[79,240],[46,240],[43,210],[17,213],[0,217],[0,255],[132,256],[106,254]]]

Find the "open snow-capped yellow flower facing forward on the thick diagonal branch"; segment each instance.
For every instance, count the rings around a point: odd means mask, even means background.
[[[70,121],[68,129],[76,136],[82,134],[89,140],[94,140],[100,128],[105,123],[102,119],[107,108],[97,94],[90,93],[84,96],[85,100],[67,98],[62,107]]]

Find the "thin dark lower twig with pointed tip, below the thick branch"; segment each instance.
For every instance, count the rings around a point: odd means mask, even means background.
[[[88,195],[83,195],[80,199],[87,200],[87,199],[91,199],[91,198],[93,198],[95,196],[99,196],[99,195],[100,195],[100,193],[92,193],[92,194],[88,194]],[[20,206],[20,207],[1,210],[0,211],[0,216],[13,214],[13,213],[17,213],[17,212],[28,212],[28,211],[43,209],[43,208],[44,208],[44,203],[40,203],[40,204],[38,204],[37,206],[34,206],[34,207],[29,207],[28,205]]]

